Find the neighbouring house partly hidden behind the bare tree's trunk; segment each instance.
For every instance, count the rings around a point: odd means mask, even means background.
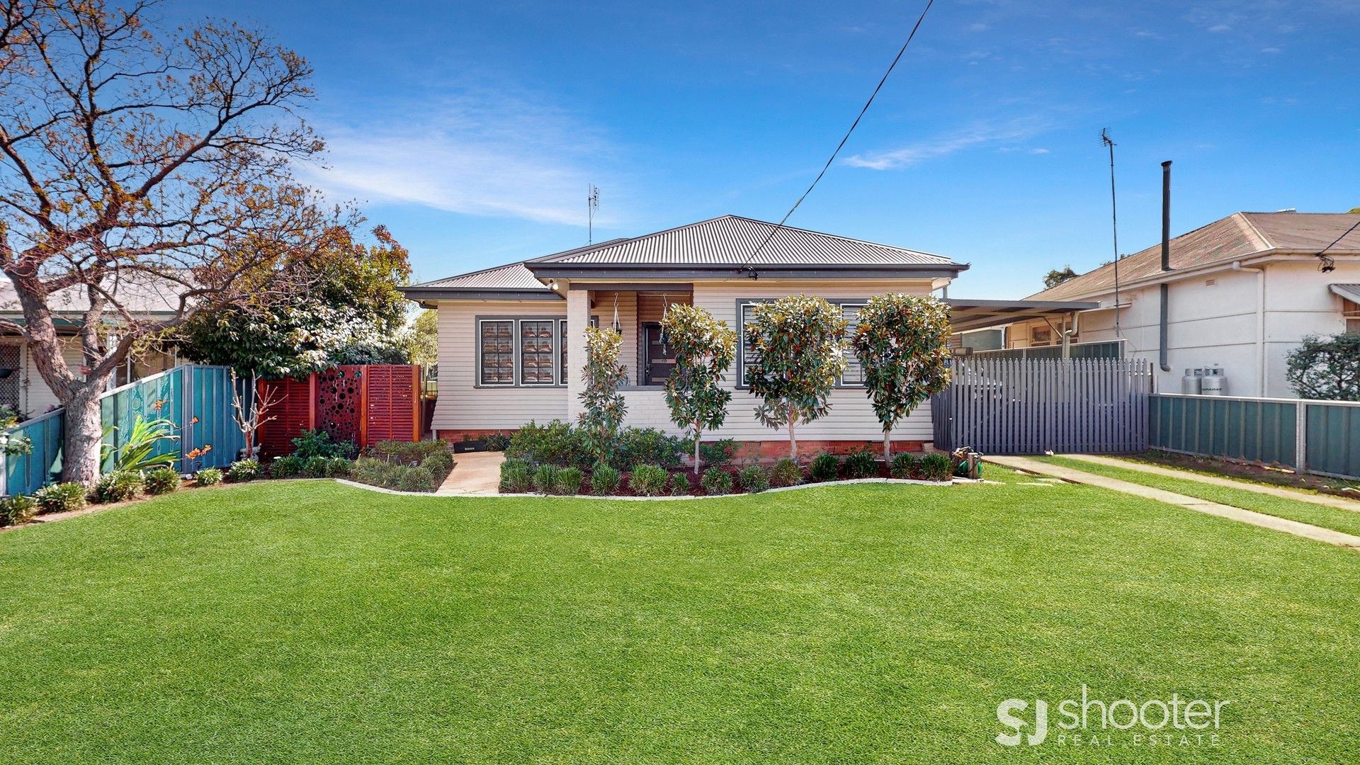
[[[88,298],[82,290],[82,287],[69,287],[53,293],[48,298],[57,335],[65,340],[61,357],[67,366],[78,373],[86,363],[79,329],[84,310],[90,306]],[[166,297],[167,294],[173,294],[173,290],[133,289],[124,284],[118,291],[118,299],[136,317],[169,319],[174,316],[174,306],[169,301],[177,298]],[[112,317],[112,312],[106,312],[105,316]],[[24,324],[14,283],[8,278],[0,280],[0,319],[19,325]],[[117,335],[117,323],[109,321],[109,332]],[[124,385],[148,374],[171,369],[175,363],[178,361],[173,346],[148,348],[144,353],[129,355],[128,361],[114,373],[110,387]],[[61,406],[57,402],[57,395],[42,380],[23,338],[14,333],[0,333],[0,406],[19,412],[20,419],[29,419]]]

